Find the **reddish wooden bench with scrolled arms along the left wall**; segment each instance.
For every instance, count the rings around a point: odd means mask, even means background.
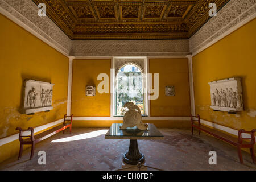
[[[70,117],[70,119],[67,119],[67,117]],[[31,144],[31,155],[30,155],[30,159],[32,159],[33,155],[34,155],[34,151],[35,151],[35,144],[48,138],[51,137],[52,135],[59,133],[60,131],[63,131],[67,129],[69,127],[69,131],[71,133],[72,130],[72,117],[73,114],[71,116],[67,116],[66,114],[64,115],[64,122],[63,125],[59,125],[56,127],[53,127],[52,129],[49,129],[47,131],[44,131],[42,133],[39,133],[37,135],[35,135],[34,133],[34,129],[32,127],[29,127],[27,130],[23,130],[20,127],[17,127],[16,130],[19,130],[19,142],[20,142],[20,147],[19,147],[19,157],[18,159],[20,159],[22,157],[22,151],[23,151],[23,145],[24,144]],[[65,123],[66,121],[70,121],[69,123]],[[31,135],[22,135],[23,131],[31,131]],[[23,139],[23,137],[25,137],[26,139]]]

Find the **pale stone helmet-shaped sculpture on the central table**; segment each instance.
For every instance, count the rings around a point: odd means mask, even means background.
[[[142,115],[139,107],[133,102],[127,102],[123,107],[127,107],[129,110],[126,111],[123,116],[123,125],[120,129],[127,129],[128,127],[136,126],[139,130],[147,130],[148,125],[142,123]]]

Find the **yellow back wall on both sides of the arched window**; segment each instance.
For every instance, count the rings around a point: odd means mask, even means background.
[[[110,94],[100,94],[97,80],[100,73],[110,78],[110,59],[73,60],[71,112],[76,117],[110,117]],[[150,73],[159,73],[159,98],[151,100],[152,116],[190,115],[187,59],[150,59]],[[96,96],[86,97],[86,85],[96,86]],[[176,96],[165,96],[165,86],[175,86]],[[109,80],[110,92],[110,80]],[[121,118],[122,120],[122,118]],[[73,127],[110,127],[122,121],[73,121]],[[143,118],[142,118],[143,120]],[[189,127],[183,121],[148,121],[157,127]]]

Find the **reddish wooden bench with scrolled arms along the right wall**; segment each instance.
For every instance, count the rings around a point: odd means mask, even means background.
[[[243,129],[238,130],[238,139],[237,139],[236,137],[232,137],[228,134],[222,133],[221,131],[214,130],[209,127],[201,125],[199,115],[196,115],[196,116],[191,115],[191,123],[192,123],[192,131],[191,131],[192,135],[193,135],[193,129],[195,127],[196,129],[199,129],[199,135],[200,135],[200,131],[202,130],[205,133],[213,135],[218,139],[224,140],[225,142],[228,142],[233,146],[236,146],[238,150],[240,163],[243,163],[241,148],[250,148],[251,158],[253,159],[253,163],[256,163],[255,154],[254,154],[254,144],[255,144],[254,134],[256,132],[256,129],[253,129],[251,131],[245,131]],[[251,138],[243,138],[242,133],[250,133]],[[250,140],[250,142],[247,142],[245,140]]]

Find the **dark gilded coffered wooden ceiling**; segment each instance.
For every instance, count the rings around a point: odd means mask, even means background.
[[[229,0],[33,0],[71,40],[188,39]]]

